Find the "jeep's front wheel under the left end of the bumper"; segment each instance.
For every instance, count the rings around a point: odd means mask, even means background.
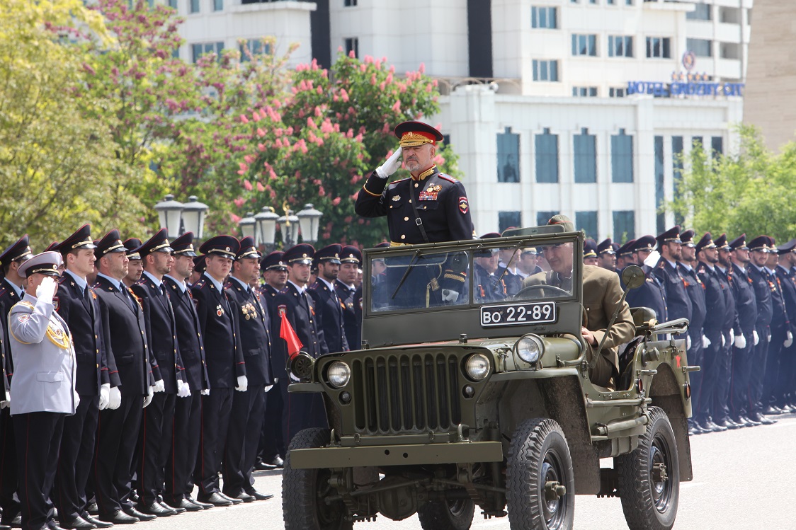
[[[299,431],[287,450],[282,473],[282,514],[286,530],[350,530],[353,521],[346,520],[347,511],[341,501],[329,505],[326,497],[337,495],[329,485],[329,470],[294,470],[291,450],[326,446],[329,429],[313,428]]]

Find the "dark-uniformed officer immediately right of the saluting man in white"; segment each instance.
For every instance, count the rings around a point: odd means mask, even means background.
[[[106,347],[111,339],[105,334],[100,302],[86,279],[94,271],[95,248],[88,224],[57,246],[66,271],[53,304],[72,332],[77,358],[76,390],[80,395],[75,415],[64,420],[53,491],[58,515],[66,520],[77,520],[86,510],[86,485],[92,470],[100,410],[109,403],[111,387],[121,384],[113,353]]]

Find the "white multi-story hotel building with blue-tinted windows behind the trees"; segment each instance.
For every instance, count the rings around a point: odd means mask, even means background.
[[[424,64],[478,233],[552,212],[595,238],[662,232],[681,154],[732,150],[743,116],[752,0],[179,2],[181,53],[275,34],[298,62]]]

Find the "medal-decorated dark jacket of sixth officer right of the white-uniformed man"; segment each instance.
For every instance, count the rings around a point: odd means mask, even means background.
[[[271,321],[260,302],[259,293],[248,291],[237,280],[224,287],[238,312],[240,345],[244,350],[248,384],[274,384],[271,375]]]

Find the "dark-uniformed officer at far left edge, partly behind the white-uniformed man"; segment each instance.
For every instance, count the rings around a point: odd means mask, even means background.
[[[14,359],[10,349],[10,336],[8,332],[8,314],[11,308],[25,296],[23,285],[25,279],[19,274],[19,267],[33,257],[27,234],[22,236],[10,247],[0,254],[0,331],[2,331],[2,370],[5,376],[3,386],[7,396],[10,395],[11,379],[14,376]],[[6,403],[7,405],[8,403]],[[19,501],[14,498],[17,491],[17,454],[14,447],[14,422],[11,421],[9,407],[0,410],[0,508],[2,519],[0,526],[11,527],[20,524]]]

